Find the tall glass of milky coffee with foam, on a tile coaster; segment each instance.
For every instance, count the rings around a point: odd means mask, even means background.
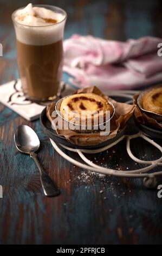
[[[62,78],[67,14],[52,5],[32,5],[12,14],[22,89],[33,101],[52,100]]]

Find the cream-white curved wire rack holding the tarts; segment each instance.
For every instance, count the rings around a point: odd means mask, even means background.
[[[108,95],[112,96],[112,97],[116,97],[116,96],[124,97],[126,99],[125,103],[131,103],[132,97],[135,93],[138,93],[138,91],[132,91],[132,90],[131,91],[129,91],[129,90],[120,91],[120,90],[118,90],[118,91],[109,91]],[[152,144],[155,148],[157,148],[161,153],[161,157],[159,159],[155,159],[152,161],[144,161],[144,160],[140,160],[137,157],[135,157],[130,148],[130,141],[131,141],[131,139],[135,139],[138,137],[144,139],[148,143]],[[94,162],[88,160],[87,157],[85,156],[85,154],[97,154],[97,153],[101,153],[105,150],[108,150],[109,148],[112,148],[114,145],[121,142],[123,139],[126,139],[126,150],[127,150],[129,157],[131,157],[131,159],[134,162],[146,165],[144,168],[129,170],[129,171],[128,170],[110,169],[110,168],[98,166]],[[92,172],[107,174],[107,175],[114,175],[114,176],[118,176],[118,177],[122,177],[122,178],[123,177],[125,177],[125,178],[142,178],[142,179],[144,179],[144,181],[143,181],[144,186],[146,186],[147,188],[156,187],[157,186],[156,177],[162,175],[162,170],[159,172],[153,171],[153,169],[155,167],[162,166],[162,147],[158,143],[155,143],[151,138],[148,138],[141,131],[139,131],[138,133],[136,133],[134,135],[123,135],[121,138],[119,138],[117,141],[113,142],[112,144],[109,144],[109,145],[99,148],[99,149],[74,149],[74,148],[66,147],[65,145],[62,145],[62,144],[57,145],[52,139],[50,139],[50,142],[53,145],[54,149],[57,151],[57,153],[59,153],[62,157],[64,157],[64,159],[66,159],[70,163],[75,164],[76,166],[78,166],[80,168],[87,169]],[[83,163],[68,156],[66,153],[64,153],[64,151],[62,149],[66,149],[66,150],[77,153],[80,156],[80,158],[83,160]]]

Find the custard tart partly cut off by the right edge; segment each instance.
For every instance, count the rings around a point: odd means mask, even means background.
[[[162,86],[153,88],[144,94],[142,106],[146,111],[162,115]]]

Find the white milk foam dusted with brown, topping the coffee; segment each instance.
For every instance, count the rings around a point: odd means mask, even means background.
[[[29,45],[47,45],[60,41],[63,38],[66,14],[56,11],[33,7],[31,3],[17,10],[12,16],[17,40]]]

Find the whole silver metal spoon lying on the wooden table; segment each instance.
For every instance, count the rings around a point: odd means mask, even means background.
[[[54,182],[49,178],[49,176],[44,172],[41,167],[40,162],[37,159],[36,151],[40,148],[40,140],[36,135],[35,131],[27,125],[18,126],[15,136],[16,148],[24,154],[30,155],[35,161],[40,174],[41,174],[41,184],[45,196],[55,197],[60,194],[59,188],[54,184]]]

